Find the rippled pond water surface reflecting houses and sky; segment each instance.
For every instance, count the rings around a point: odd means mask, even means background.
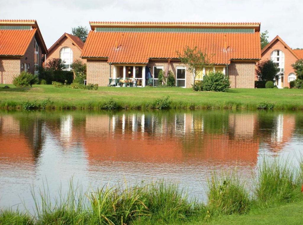
[[[50,194],[127,180],[169,179],[205,200],[210,171],[237,167],[250,178],[263,157],[303,153],[302,112],[0,111],[0,207],[33,206]]]

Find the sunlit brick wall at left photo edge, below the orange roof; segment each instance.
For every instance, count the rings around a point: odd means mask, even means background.
[[[20,74],[20,65],[19,58],[0,58],[1,83],[12,83]]]

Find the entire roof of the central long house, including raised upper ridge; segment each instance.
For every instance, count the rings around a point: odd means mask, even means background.
[[[148,31],[120,31],[125,26]],[[154,29],[158,26],[161,26],[161,32]],[[212,30],[214,26],[219,30]],[[177,59],[177,51],[182,54],[186,46],[197,46],[208,54],[214,64],[228,64],[231,60],[259,60],[260,33],[255,31],[259,26],[259,23],[91,22],[94,30],[89,32],[81,56],[105,58],[109,63],[147,64],[150,59]],[[197,27],[211,30],[188,30]],[[101,31],[98,28],[102,28]],[[104,28],[109,28],[109,31]],[[118,31],[110,31],[112,28]],[[168,28],[177,30],[168,32]],[[249,31],[226,32],[226,29],[235,28]]]

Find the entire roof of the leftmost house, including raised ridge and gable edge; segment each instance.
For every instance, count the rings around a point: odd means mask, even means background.
[[[46,45],[35,20],[0,20],[0,56],[22,57],[32,38],[47,52]]]

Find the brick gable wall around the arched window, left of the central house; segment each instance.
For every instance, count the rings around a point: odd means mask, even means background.
[[[82,60],[83,63],[86,63],[86,59],[82,59],[80,57],[81,50],[75,46],[72,41],[66,36],[46,55],[46,63],[49,62],[52,58],[60,58],[60,50],[63,47],[70,47],[73,51],[73,60],[79,59]]]

